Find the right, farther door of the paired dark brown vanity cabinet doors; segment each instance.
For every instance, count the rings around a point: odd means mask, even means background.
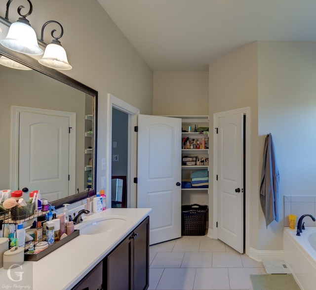
[[[149,216],[134,230],[134,290],[149,286]]]

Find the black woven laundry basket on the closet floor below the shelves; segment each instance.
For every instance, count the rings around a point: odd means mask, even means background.
[[[197,204],[182,206],[181,235],[204,236],[206,230],[207,206]]]

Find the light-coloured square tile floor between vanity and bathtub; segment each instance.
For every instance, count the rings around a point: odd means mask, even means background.
[[[149,290],[250,290],[263,263],[207,236],[183,236],[150,247]]]

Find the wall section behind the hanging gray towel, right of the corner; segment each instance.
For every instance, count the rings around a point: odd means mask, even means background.
[[[283,196],[315,195],[316,42],[260,41],[258,48],[257,170],[271,132],[280,174],[280,221],[267,229],[258,205],[258,249],[277,250],[283,248]]]

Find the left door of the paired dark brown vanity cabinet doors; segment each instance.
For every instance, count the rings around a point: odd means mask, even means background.
[[[131,290],[132,245],[133,240],[127,236],[107,257],[107,290]]]

